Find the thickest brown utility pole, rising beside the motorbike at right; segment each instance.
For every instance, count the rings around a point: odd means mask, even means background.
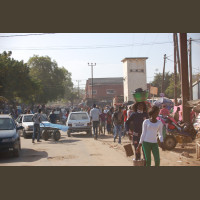
[[[181,58],[181,90],[183,121],[190,123],[190,108],[186,107],[190,99],[188,80],[188,55],[187,55],[187,33],[180,33],[180,58]]]

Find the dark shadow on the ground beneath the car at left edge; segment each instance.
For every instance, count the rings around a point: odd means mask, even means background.
[[[12,152],[1,152],[0,153],[0,164],[1,163],[17,163],[17,162],[35,162],[42,158],[47,158],[48,153],[46,151],[36,151],[33,149],[23,148],[20,151],[19,157],[14,157]]]

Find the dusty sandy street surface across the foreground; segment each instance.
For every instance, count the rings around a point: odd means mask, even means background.
[[[0,166],[133,166],[134,156],[126,157],[123,148],[128,143],[128,137],[122,138],[120,145],[113,143],[111,135],[101,135],[98,140],[94,140],[85,133],[67,137],[62,132],[57,142],[49,139],[35,144],[32,144],[31,138],[21,137],[20,157],[1,154]],[[178,144],[173,151],[160,149],[161,166],[200,166],[200,160],[196,159],[195,143],[187,144],[184,148]]]

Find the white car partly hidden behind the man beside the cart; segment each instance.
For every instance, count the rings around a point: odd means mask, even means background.
[[[23,126],[23,130],[21,131],[21,135],[24,138],[32,137],[33,135],[33,114],[22,114],[16,119],[16,123],[18,126]],[[48,123],[48,119],[46,114],[42,114],[42,122]],[[42,130],[41,130],[42,132]]]

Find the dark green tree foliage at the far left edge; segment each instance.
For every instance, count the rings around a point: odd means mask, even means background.
[[[11,55],[11,51],[0,54],[0,94],[10,101],[30,102],[39,85],[29,76],[29,67]]]

